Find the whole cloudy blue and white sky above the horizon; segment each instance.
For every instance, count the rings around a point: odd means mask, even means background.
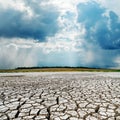
[[[120,68],[119,0],[0,0],[0,69]]]

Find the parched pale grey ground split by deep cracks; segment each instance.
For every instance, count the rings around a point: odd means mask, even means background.
[[[120,120],[120,73],[1,73],[0,120]]]

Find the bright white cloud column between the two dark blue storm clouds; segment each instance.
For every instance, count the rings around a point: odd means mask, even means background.
[[[57,49],[60,51],[60,48],[66,51],[81,51],[80,46],[83,43],[82,37],[85,34],[85,29],[77,22],[77,5],[80,2],[87,1],[88,0],[49,0],[49,2],[46,3],[57,6],[60,12],[58,18],[60,29],[55,36],[47,38],[49,41],[48,44],[52,43],[56,46],[52,51]],[[79,48],[76,48],[76,46],[79,46]]]

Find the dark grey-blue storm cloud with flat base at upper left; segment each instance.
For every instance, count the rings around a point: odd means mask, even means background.
[[[0,7],[0,37],[32,38],[44,41],[47,36],[54,35],[58,30],[58,11],[53,7],[41,7],[39,2],[27,2],[26,6],[34,15],[27,18],[26,12],[14,8]]]

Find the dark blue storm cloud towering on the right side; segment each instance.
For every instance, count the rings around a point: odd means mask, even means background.
[[[78,22],[84,25],[84,37],[89,43],[103,49],[120,49],[120,20],[114,12],[106,16],[106,9],[96,2],[79,4],[77,9]]]

